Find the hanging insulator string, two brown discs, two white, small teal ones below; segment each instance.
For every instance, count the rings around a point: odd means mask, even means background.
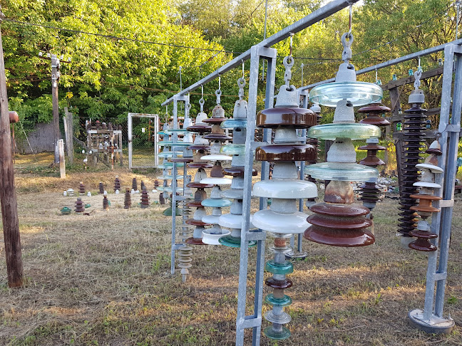
[[[299,179],[297,161],[308,161],[316,157],[316,150],[306,143],[306,137],[297,136],[297,129],[316,125],[316,115],[311,110],[299,108],[299,97],[294,85],[290,85],[290,68],[294,59],[284,58],[286,84],[277,95],[274,108],[262,110],[257,114],[257,127],[274,129],[274,144],[263,145],[255,150],[257,161],[274,162],[272,179],[255,183],[253,194],[257,197],[271,198],[270,209],[257,211],[252,217],[253,226],[268,231],[274,236],[271,251],[274,259],[267,261],[266,270],[272,273],[265,283],[272,288],[265,301],[272,310],[265,313],[271,325],[265,328],[265,335],[273,340],[284,340],[290,336],[287,327],[290,315],[284,307],[292,299],[284,290],[292,286],[286,275],[293,272],[292,263],[286,261],[286,254],[292,252],[287,239],[292,234],[301,234],[307,229],[307,214],[298,211],[299,199],[317,196],[317,187],[312,182]]]

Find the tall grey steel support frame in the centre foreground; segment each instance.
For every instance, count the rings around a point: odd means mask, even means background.
[[[263,274],[265,265],[266,231],[250,231],[250,201],[252,195],[253,149],[255,148],[255,129],[257,115],[257,92],[260,71],[260,58],[267,61],[267,83],[265,91],[265,108],[272,108],[274,103],[274,84],[276,76],[276,56],[274,48],[252,46],[250,48],[249,101],[247,108],[247,137],[245,140],[244,199],[242,200],[242,231],[239,262],[239,288],[237,295],[236,345],[244,345],[244,330],[252,328],[252,345],[260,345],[262,329]],[[271,141],[271,129],[263,135],[263,141]],[[268,179],[269,164],[262,162],[261,179]],[[265,209],[267,199],[260,199],[260,209]],[[249,243],[257,241],[257,263],[255,273],[255,301],[252,315],[245,315],[247,302],[247,272],[249,266]]]

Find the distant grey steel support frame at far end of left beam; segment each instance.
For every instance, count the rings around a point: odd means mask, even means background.
[[[185,103],[185,115],[188,110],[186,110],[186,103],[189,103],[189,95],[175,95],[173,96],[173,129],[176,130],[178,126],[178,101]],[[173,157],[176,157],[176,148],[175,142],[178,141],[178,135],[176,132],[172,135],[173,145]],[[185,164],[186,165],[186,164]],[[183,243],[176,243],[176,190],[178,187],[177,183],[177,167],[176,162],[173,162],[172,167],[172,247],[170,253],[170,273],[175,274],[175,251],[177,251]],[[185,193],[185,179],[183,176],[183,194]]]

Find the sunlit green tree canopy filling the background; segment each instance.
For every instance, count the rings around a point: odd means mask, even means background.
[[[71,58],[61,65],[59,95],[61,106],[73,106],[74,114],[120,121],[127,112],[164,114],[160,103],[181,86],[185,88],[262,41],[265,2],[9,0],[2,9],[6,21],[1,29],[10,108],[19,110],[26,125],[51,119],[50,61],[39,58],[43,51],[62,55],[64,60]],[[324,2],[267,1],[266,36]],[[364,0],[363,6],[354,6],[352,62],[364,68],[452,41],[455,16],[450,0]],[[348,22],[345,9],[295,34],[294,85],[334,76],[342,55],[339,38],[348,31]],[[289,53],[288,41],[274,48],[279,62]],[[438,58],[442,53],[422,58],[424,70],[436,67]],[[392,74],[401,78],[416,67],[417,61],[410,61],[379,70],[378,76],[386,82]],[[222,76],[222,103],[227,110],[237,98],[240,73],[236,69]],[[283,75],[282,63],[278,63],[277,85],[283,83]],[[375,81],[375,73],[360,79]],[[438,78],[433,78],[424,85],[432,106],[439,103],[437,83]],[[217,84],[215,80],[205,85],[207,109],[213,108]],[[192,95],[192,114],[198,110],[199,98]]]

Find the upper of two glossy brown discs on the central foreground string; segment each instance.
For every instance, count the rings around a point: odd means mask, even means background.
[[[257,114],[257,127],[279,126],[303,129],[317,124],[317,115],[307,108],[268,108]]]

